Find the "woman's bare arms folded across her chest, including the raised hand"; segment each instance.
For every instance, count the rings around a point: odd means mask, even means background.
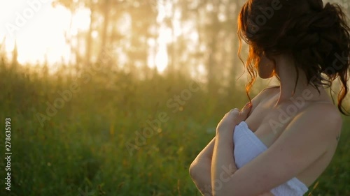
[[[237,114],[229,112],[219,123],[216,137],[190,166],[197,188],[203,195],[271,195],[269,190],[297,176],[323,156],[329,138],[335,138],[341,129],[342,119],[338,115],[315,115],[320,113],[318,110],[311,107],[295,116],[279,140],[239,170],[232,141]]]

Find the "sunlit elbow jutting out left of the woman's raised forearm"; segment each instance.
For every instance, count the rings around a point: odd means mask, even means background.
[[[198,154],[190,165],[190,176],[202,195],[211,195],[211,158],[213,156],[215,137]]]

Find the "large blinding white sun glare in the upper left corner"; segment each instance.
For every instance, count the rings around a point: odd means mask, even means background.
[[[35,3],[34,3],[35,2]],[[87,29],[90,13],[80,10],[73,16],[62,6],[52,6],[52,1],[0,1],[0,38],[5,40],[6,52],[18,46],[20,63],[49,65],[68,61],[69,45],[64,35]]]

